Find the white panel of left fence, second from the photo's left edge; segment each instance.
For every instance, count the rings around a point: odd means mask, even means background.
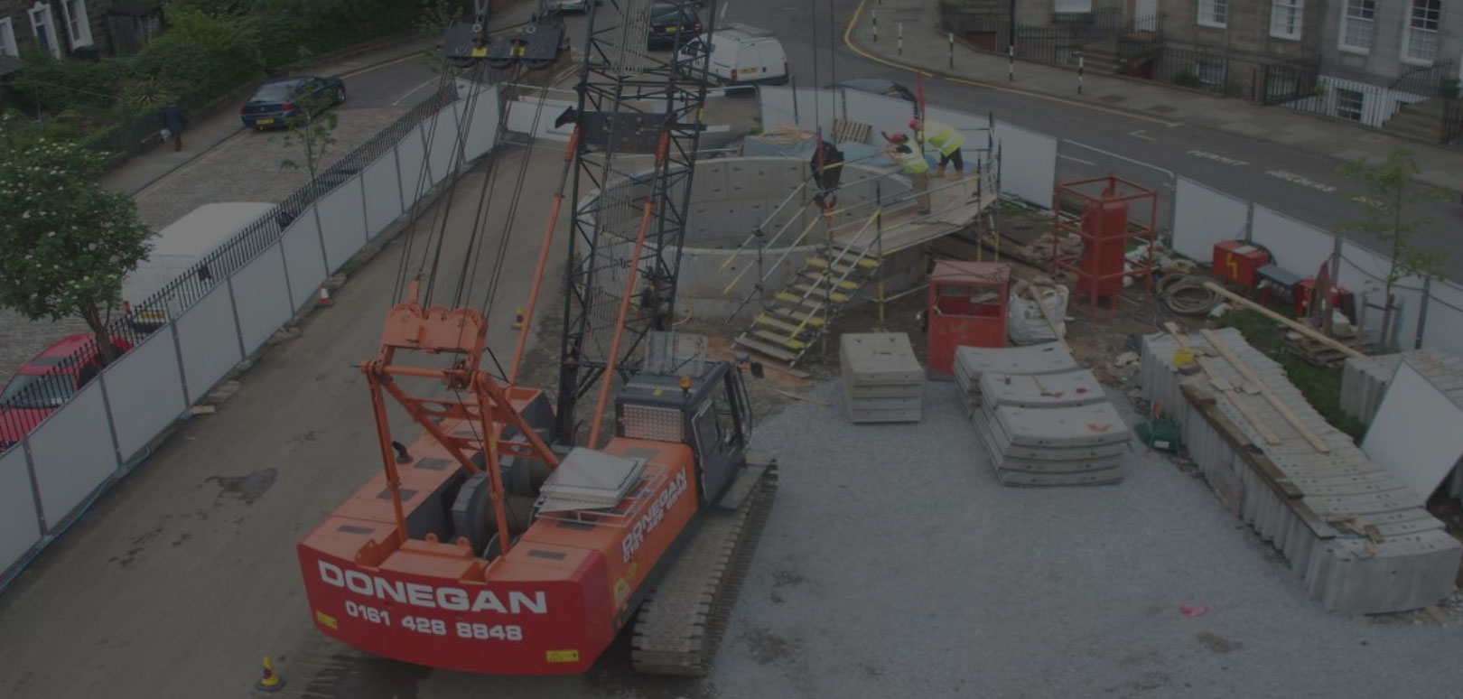
[[[91,382],[72,402],[53,412],[31,433],[29,443],[41,512],[47,526],[54,529],[117,472],[101,382]]]

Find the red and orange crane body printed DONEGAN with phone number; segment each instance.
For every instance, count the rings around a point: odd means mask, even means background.
[[[612,515],[540,516],[492,562],[465,541],[398,543],[377,474],[297,547],[315,624],[350,646],[418,665],[584,673],[698,509],[689,446],[616,437],[603,452],[647,461]],[[411,453],[411,464],[396,466],[408,522],[437,516],[433,509],[445,505],[436,494],[461,468],[430,437]],[[435,466],[442,461],[448,468]]]

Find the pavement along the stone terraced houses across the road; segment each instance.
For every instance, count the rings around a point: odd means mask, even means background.
[[[903,47],[897,39],[898,25],[903,25]],[[939,26],[939,6],[930,0],[863,0],[843,41],[865,58],[917,72],[926,79],[1040,98],[1058,110],[1125,114],[1160,129],[1208,127],[1343,161],[1384,159],[1393,148],[1403,146],[1418,161],[1419,181],[1451,190],[1463,186],[1463,152],[1362,126],[1150,80],[1093,73],[1078,80],[1077,70],[1021,60],[1009,73],[1005,56],[976,51],[958,38],[951,42]]]

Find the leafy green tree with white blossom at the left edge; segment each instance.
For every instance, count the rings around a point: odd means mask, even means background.
[[[152,231],[130,197],[95,184],[105,161],[0,117],[0,306],[31,320],[80,317],[110,361],[107,325]]]

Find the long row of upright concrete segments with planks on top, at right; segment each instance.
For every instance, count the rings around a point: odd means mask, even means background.
[[[1216,333],[1327,447],[1323,452],[1311,445],[1264,396],[1220,390],[1246,385],[1226,360],[1208,361],[1220,376],[1179,374],[1173,364],[1178,341],[1166,333],[1144,338],[1144,396],[1181,424],[1189,456],[1220,502],[1285,554],[1327,610],[1377,614],[1448,597],[1463,545],[1443,522],[1349,436],[1327,424],[1277,363],[1249,347],[1238,330]],[[1189,344],[1201,351],[1208,347],[1201,336]],[[1200,399],[1198,390],[1210,398]],[[1261,436],[1236,407],[1241,404],[1279,443]]]

